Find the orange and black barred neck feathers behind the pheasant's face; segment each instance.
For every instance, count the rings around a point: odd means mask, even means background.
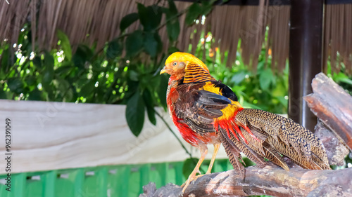
[[[184,69],[183,83],[216,81],[205,69],[201,68],[199,64],[187,64]]]

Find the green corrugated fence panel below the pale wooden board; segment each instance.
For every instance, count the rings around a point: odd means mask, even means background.
[[[204,161],[203,169],[209,161]],[[183,162],[143,165],[111,165],[96,168],[25,172],[11,175],[11,191],[6,191],[6,175],[0,175],[1,197],[137,197],[143,186],[155,182],[160,188],[169,182],[183,184]],[[227,159],[215,160],[213,172],[232,169]]]

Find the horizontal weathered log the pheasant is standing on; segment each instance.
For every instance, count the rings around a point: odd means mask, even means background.
[[[290,171],[279,167],[246,168],[245,179],[236,170],[204,175],[192,182],[183,196],[352,196],[352,168],[342,170]],[[155,184],[143,187],[139,197],[181,196],[182,188],[168,184],[156,190]]]

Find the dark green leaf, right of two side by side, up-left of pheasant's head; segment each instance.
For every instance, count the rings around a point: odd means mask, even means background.
[[[157,32],[144,34],[144,49],[151,57],[155,57],[162,47],[161,38]]]

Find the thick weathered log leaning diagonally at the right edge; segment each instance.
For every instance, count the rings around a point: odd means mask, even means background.
[[[352,151],[352,97],[325,74],[312,82],[313,94],[304,97],[315,116],[343,140]]]

